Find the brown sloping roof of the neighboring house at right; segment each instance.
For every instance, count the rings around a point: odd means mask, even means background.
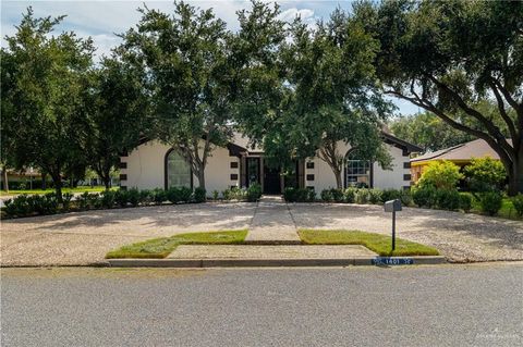
[[[510,139],[508,139],[507,141],[511,142]],[[466,161],[471,160],[472,158],[482,157],[499,159],[498,153],[496,153],[496,151],[484,139],[478,138],[470,142],[461,144],[458,146],[449,147],[413,158],[411,159],[411,162],[422,162],[429,160]]]

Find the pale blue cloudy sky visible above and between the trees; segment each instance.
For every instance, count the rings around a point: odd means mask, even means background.
[[[239,27],[236,11],[250,8],[250,1],[245,0],[190,0],[186,1],[200,9],[212,8],[218,17],[228,23],[231,30]],[[273,2],[273,1],[270,1]],[[351,9],[351,0],[338,1],[278,1],[281,8],[281,17],[292,21],[301,15],[304,21],[314,23],[320,18],[327,18],[337,8]],[[133,0],[89,0],[89,1],[1,1],[1,36],[4,46],[5,35],[15,33],[27,7],[33,7],[35,16],[58,16],[65,14],[66,17],[57,27],[57,32],[73,30],[81,37],[90,36],[97,47],[97,54],[107,54],[111,48],[120,44],[115,34],[124,33],[134,26],[139,20],[137,8],[144,5],[149,9],[158,9],[170,12],[173,9],[172,0],[165,1],[133,1]],[[391,99],[398,107],[397,114],[413,114],[418,112],[417,107],[408,101]]]

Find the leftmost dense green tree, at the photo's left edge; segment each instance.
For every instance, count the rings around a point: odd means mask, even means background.
[[[35,18],[29,8],[2,49],[2,77],[10,80],[2,88],[2,123],[16,127],[10,133],[13,156],[48,173],[59,200],[63,170],[85,156],[86,76],[94,52],[90,39],[51,36],[62,18]]]

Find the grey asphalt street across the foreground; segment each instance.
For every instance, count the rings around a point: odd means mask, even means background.
[[[2,269],[1,346],[522,346],[523,263]]]

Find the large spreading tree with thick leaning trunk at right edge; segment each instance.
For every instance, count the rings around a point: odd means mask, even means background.
[[[523,2],[364,2],[355,13],[380,42],[385,91],[485,140],[509,195],[523,193]]]

